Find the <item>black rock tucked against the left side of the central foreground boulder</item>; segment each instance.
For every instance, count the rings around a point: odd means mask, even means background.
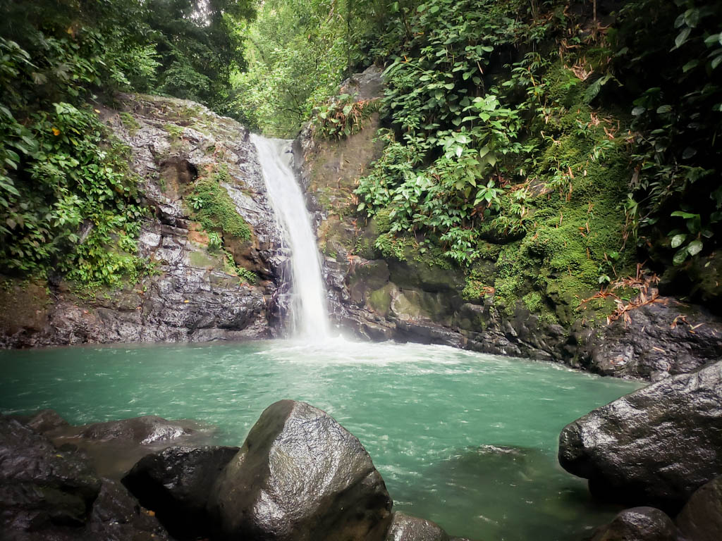
[[[140,459],[123,485],[177,539],[209,533],[206,504],[218,475],[238,447],[168,447]]]

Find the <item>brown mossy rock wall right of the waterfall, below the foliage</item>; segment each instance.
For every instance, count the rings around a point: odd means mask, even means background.
[[[357,92],[359,99],[382,91],[381,70],[375,67],[342,89]],[[470,276],[432,252],[422,254],[413,242],[383,254],[375,245],[378,220],[357,216],[353,194],[357,179],[380,155],[379,127],[378,115],[372,115],[359,133],[324,140],[307,126],[294,145],[296,169],[316,213],[336,325],[372,340],[441,343],[561,361],[619,377],[661,379],[721,355],[722,320],[703,307],[659,296],[653,286],[643,286],[644,297],[608,321],[609,309],[596,312],[565,291],[505,304],[500,291],[476,287],[495,283],[492,260],[477,265]],[[611,298],[603,300],[614,305]]]

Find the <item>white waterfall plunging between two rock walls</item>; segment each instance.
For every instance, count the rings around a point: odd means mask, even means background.
[[[303,338],[329,335],[326,289],[316,236],[306,210],[305,199],[284,151],[289,141],[251,134],[258,149],[271,206],[291,250],[293,330]]]

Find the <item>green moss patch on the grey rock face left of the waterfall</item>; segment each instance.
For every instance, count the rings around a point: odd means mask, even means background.
[[[235,205],[220,182],[230,180],[227,170],[210,177],[199,177],[188,196],[193,209],[191,218],[199,221],[206,231],[220,230],[238,239],[250,239],[251,228],[235,210]]]

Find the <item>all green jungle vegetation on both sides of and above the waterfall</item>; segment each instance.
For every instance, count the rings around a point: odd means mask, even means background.
[[[313,120],[317,137],[343,138],[380,108],[383,155],[354,210],[380,255],[465,268],[470,298],[543,307],[644,260],[684,293],[714,261],[720,1],[0,6],[3,273],[113,284],[147,271],[127,149],[98,114],[117,90],[198,100],[275,136]],[[329,100],[371,63],[383,100]]]

